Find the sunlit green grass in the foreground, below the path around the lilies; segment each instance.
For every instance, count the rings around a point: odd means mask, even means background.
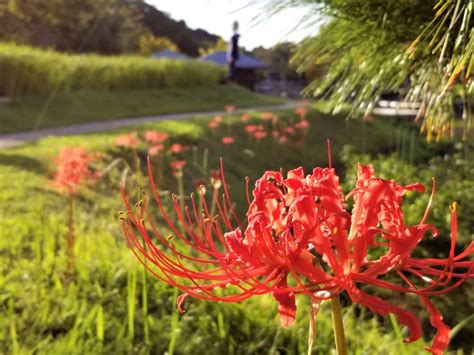
[[[255,116],[258,116],[255,114]],[[291,120],[289,112],[282,120]],[[209,168],[224,158],[230,193],[236,207],[245,210],[244,177],[252,181],[265,169],[285,170],[303,165],[306,171],[327,164],[326,138],[332,140],[333,165],[343,176],[339,155],[345,144],[356,152],[390,151],[394,147],[389,121],[347,122],[312,112],[311,127],[304,140],[276,145],[272,139],[249,141],[243,124],[230,119],[234,145],[223,146],[228,134],[224,125],[214,137],[206,119],[150,123],[136,127],[170,133],[173,142],[187,144],[184,158],[185,187],[190,192],[194,179],[207,178]],[[141,269],[121,234],[117,211],[123,209],[119,181],[126,173],[130,156],[113,146],[118,130],[101,134],[57,137],[0,152],[0,349],[12,354],[159,354],[174,347],[176,354],[301,354],[306,352],[308,300],[298,297],[296,324],[282,329],[276,317],[276,303],[270,296],[239,304],[216,304],[187,299],[187,312],[176,317],[174,291],[148,277],[148,325],[145,335]],[[100,181],[86,187],[75,199],[77,275],[65,286],[66,212],[64,196],[50,183],[54,158],[63,146],[83,146],[101,151],[98,166],[111,168]],[[201,171],[204,151],[209,166]],[[142,166],[145,147],[140,147]],[[197,164],[193,164],[197,162]],[[167,175],[165,187],[176,191]],[[140,186],[132,183],[133,189]],[[400,332],[390,319],[379,321],[369,312],[343,299],[344,322],[351,354],[418,354],[424,343],[400,344]],[[314,354],[328,354],[334,348],[330,310],[324,304],[316,324]],[[416,310],[415,310],[416,311]],[[132,336],[133,331],[133,336]],[[176,334],[176,343],[172,343]],[[171,346],[172,345],[172,346]]]

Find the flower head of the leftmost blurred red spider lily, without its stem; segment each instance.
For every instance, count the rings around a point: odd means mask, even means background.
[[[54,185],[68,194],[76,193],[82,183],[99,177],[99,173],[89,167],[96,158],[97,155],[87,153],[84,148],[63,148],[58,157]]]

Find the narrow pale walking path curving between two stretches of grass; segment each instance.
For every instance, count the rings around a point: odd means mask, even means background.
[[[259,107],[247,107],[238,109],[235,113],[244,113],[250,111],[279,111],[293,109],[301,106],[299,101],[288,101],[281,105],[272,106],[259,106]],[[114,128],[135,126],[141,123],[153,122],[153,121],[164,121],[164,120],[182,120],[190,117],[199,116],[214,116],[223,114],[223,111],[211,111],[211,112],[185,112],[185,113],[172,113],[166,115],[157,116],[144,116],[144,117],[129,117],[121,118],[116,120],[108,120],[101,122],[89,122],[74,124],[71,126],[54,127],[54,128],[43,128],[35,131],[18,132],[0,135],[0,149],[1,148],[12,148],[21,144],[31,142],[40,138],[48,136],[68,136],[83,133],[101,132],[107,131]]]

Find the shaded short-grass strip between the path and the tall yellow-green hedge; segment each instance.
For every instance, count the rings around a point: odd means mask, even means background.
[[[74,123],[166,113],[222,110],[283,103],[239,86],[57,93],[48,98],[25,97],[0,105],[0,134]]]

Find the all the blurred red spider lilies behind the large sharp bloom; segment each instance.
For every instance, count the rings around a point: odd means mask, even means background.
[[[226,119],[228,125],[228,132],[230,133],[230,125],[228,118],[232,115],[236,107],[234,105],[227,105],[224,107],[227,116],[217,115],[209,123],[209,128],[212,134],[216,134],[218,127]],[[295,134],[295,130],[299,129],[304,132],[309,123],[306,120],[308,110],[305,107],[300,107],[295,110],[295,113],[300,117],[298,123],[292,126],[285,126],[284,129],[287,134]],[[242,121],[247,122],[253,117],[244,113],[241,116]],[[279,131],[276,127],[282,125],[278,124],[278,117],[270,112],[264,112],[261,115],[264,121],[272,122],[272,136],[278,137]],[[267,136],[266,126],[263,124],[259,125],[247,125],[245,127],[247,132],[250,132],[251,127],[252,134],[256,139],[262,139]],[[283,139],[286,140],[285,136],[280,137],[280,143],[284,143]],[[234,138],[229,134],[223,135],[220,141],[224,145],[234,143]],[[139,151],[145,150],[147,155],[155,162],[155,170],[157,171],[156,180],[163,180],[163,171],[170,171],[171,175],[177,179],[178,189],[182,190],[182,175],[183,169],[188,164],[188,160],[185,159],[184,154],[189,150],[188,146],[180,143],[171,142],[169,134],[165,132],[159,132],[154,130],[147,130],[141,135],[137,132],[131,132],[128,134],[119,135],[115,138],[115,146],[120,149],[125,149],[131,152],[132,159],[128,162],[131,165],[132,170],[135,174],[141,174],[140,172],[140,159]],[[61,193],[64,193],[68,197],[68,260],[70,264],[70,274],[74,272],[74,253],[72,251],[74,247],[74,222],[73,222],[73,196],[78,193],[80,187],[84,184],[93,184],[100,178],[100,171],[91,168],[91,162],[97,161],[101,158],[99,153],[88,153],[84,148],[81,147],[66,147],[61,150],[57,157],[57,170],[54,176],[54,185],[58,188]],[[169,161],[168,167],[164,166],[164,160],[167,158]],[[209,183],[214,186],[219,183],[218,172],[211,171],[209,174]],[[206,185],[203,179],[195,179],[196,188],[199,190],[201,185]],[[182,192],[182,191],[181,191]]]

